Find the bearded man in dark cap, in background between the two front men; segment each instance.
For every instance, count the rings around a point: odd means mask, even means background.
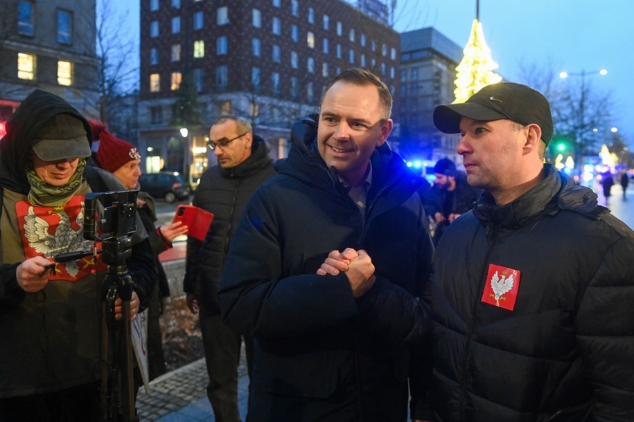
[[[481,190],[470,186],[464,172],[456,169],[449,158],[441,158],[434,165],[436,180],[429,194],[425,212],[429,212],[436,223],[434,229],[434,245],[437,245],[445,229],[455,219],[464,214],[475,203]]]

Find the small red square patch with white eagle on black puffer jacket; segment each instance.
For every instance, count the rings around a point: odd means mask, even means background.
[[[520,274],[520,270],[489,264],[482,302],[513,311],[520,289]]]

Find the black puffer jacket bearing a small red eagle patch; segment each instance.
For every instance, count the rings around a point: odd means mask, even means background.
[[[634,233],[588,188],[545,169],[513,203],[483,194],[443,235],[437,421],[634,421]],[[491,265],[520,271],[512,311],[483,302]]]

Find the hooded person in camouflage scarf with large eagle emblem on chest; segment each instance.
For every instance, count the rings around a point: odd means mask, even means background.
[[[87,166],[87,120],[62,98],[35,90],[0,140],[0,421],[100,419],[100,257],[54,262],[89,250],[85,195],[123,190]],[[127,268],[130,313],[145,302],[156,270],[141,223]],[[114,302],[121,319],[121,299]],[[114,378],[113,378],[114,379]]]

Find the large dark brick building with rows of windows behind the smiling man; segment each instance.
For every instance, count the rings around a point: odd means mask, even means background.
[[[195,182],[209,165],[209,126],[224,113],[249,119],[281,158],[292,122],[318,111],[342,70],[368,68],[396,93],[399,50],[398,33],[340,0],[141,0],[146,170],[184,171]],[[177,100],[201,118],[187,122]]]

